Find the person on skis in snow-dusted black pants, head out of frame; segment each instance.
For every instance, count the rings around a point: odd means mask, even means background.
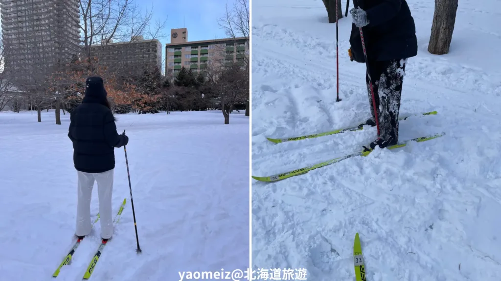
[[[362,27],[372,113],[367,124],[378,126],[379,137],[370,147],[384,148],[398,142],[398,111],[405,64],[407,58],[417,54],[414,19],[405,0],[358,0],[350,13],[353,18],[350,56],[357,62],[366,62],[359,30]]]

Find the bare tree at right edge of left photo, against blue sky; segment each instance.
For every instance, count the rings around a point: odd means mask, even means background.
[[[243,84],[249,84],[250,78],[250,55],[248,48],[250,45],[250,14],[249,14],[249,1],[248,0],[235,0],[233,6],[230,8],[226,4],[226,13],[224,17],[219,18],[219,26],[224,30],[225,34],[233,38],[234,44],[237,45],[237,40],[241,41],[242,37],[245,38],[245,48],[243,50],[236,50],[236,61],[240,64],[240,69],[243,68],[243,76],[246,81]],[[245,98],[245,116],[250,115],[250,90],[247,92]],[[224,111],[224,110],[223,110]],[[228,115],[229,116],[229,115]],[[225,116],[226,117],[226,116]]]

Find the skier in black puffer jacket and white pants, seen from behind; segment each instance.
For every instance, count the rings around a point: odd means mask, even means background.
[[[91,195],[94,181],[97,181],[101,236],[109,239],[114,230],[111,213],[114,147],[126,145],[129,138],[117,133],[103,79],[89,77],[85,85],[82,104],[71,112],[68,132],[73,142],[73,162],[78,174],[76,235],[82,239],[91,232]]]

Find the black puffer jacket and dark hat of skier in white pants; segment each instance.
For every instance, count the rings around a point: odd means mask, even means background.
[[[71,112],[68,137],[73,141],[73,161],[79,171],[98,173],[115,168],[114,147],[128,137],[117,133],[115,118],[106,100],[101,77],[89,77],[82,104]]]

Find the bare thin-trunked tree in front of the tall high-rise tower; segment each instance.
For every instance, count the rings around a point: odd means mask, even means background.
[[[66,37],[63,34],[68,32],[63,29],[65,17],[60,13],[63,2],[57,1],[56,9],[53,2],[39,0],[25,0],[19,4],[16,8],[23,16],[22,22],[10,24],[9,29],[4,30],[4,38],[9,38],[5,41],[6,64],[10,79],[25,100],[30,100],[30,106],[37,108],[41,122],[41,110],[53,102],[48,78],[72,48],[70,44],[77,42],[63,39]]]

